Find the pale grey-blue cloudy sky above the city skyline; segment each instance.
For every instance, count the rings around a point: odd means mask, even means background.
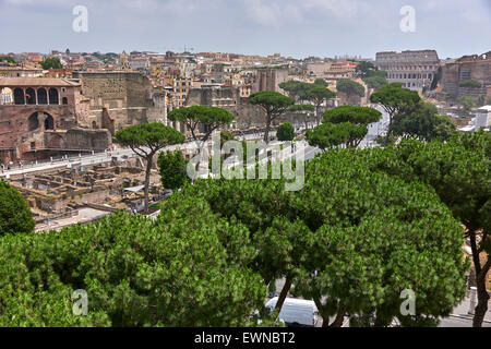
[[[88,32],[73,31],[75,5]],[[403,32],[400,9],[415,9]],[[0,0],[0,52],[122,50],[304,58],[436,49],[491,50],[491,0]]]

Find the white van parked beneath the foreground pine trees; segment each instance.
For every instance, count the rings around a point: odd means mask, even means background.
[[[266,303],[266,308],[273,312],[278,298],[275,297]],[[279,312],[279,320],[287,326],[315,327],[319,322],[319,311],[314,301],[287,298]]]

